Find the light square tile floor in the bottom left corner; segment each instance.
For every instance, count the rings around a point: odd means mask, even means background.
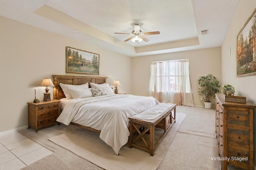
[[[0,133],[0,170],[20,170],[52,151],[16,131]]]

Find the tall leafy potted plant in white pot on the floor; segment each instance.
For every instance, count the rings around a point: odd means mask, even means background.
[[[210,109],[212,106],[212,99],[215,98],[215,94],[219,92],[219,81],[212,74],[207,76],[201,76],[197,80],[199,84],[199,95],[204,100],[204,107]]]

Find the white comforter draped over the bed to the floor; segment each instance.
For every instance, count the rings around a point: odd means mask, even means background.
[[[65,125],[78,123],[100,130],[100,139],[118,155],[130,135],[128,117],[157,104],[158,101],[152,97],[124,94],[74,99],[66,104],[57,121]]]

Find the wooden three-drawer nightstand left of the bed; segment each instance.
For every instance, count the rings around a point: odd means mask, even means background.
[[[60,100],[33,103],[28,102],[28,129],[38,129],[53,125],[60,115]]]

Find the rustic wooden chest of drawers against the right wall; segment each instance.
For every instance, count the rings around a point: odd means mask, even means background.
[[[216,137],[222,170],[227,170],[228,164],[253,169],[254,108],[250,102],[225,102],[223,94],[216,94]]]

